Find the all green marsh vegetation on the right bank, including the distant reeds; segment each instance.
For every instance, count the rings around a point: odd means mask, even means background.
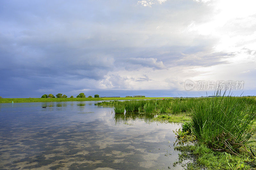
[[[151,115],[152,120],[183,122],[182,128],[174,133],[181,144],[177,150],[183,154],[190,152],[190,156],[197,158],[194,164],[186,165],[190,169],[201,166],[209,169],[255,168],[256,100],[226,97],[225,94],[226,91],[223,94],[217,91],[212,98],[110,101],[98,105],[114,106],[115,116],[120,120],[125,120],[127,113],[136,112]],[[191,141],[193,144],[187,143]],[[212,154],[215,162],[202,161],[205,154]]]

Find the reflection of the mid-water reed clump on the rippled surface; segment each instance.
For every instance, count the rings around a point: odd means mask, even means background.
[[[125,114],[115,114],[114,116],[115,123],[129,123],[130,121],[135,120],[144,120],[147,123],[152,118],[155,118],[155,115],[138,112],[126,112]]]

